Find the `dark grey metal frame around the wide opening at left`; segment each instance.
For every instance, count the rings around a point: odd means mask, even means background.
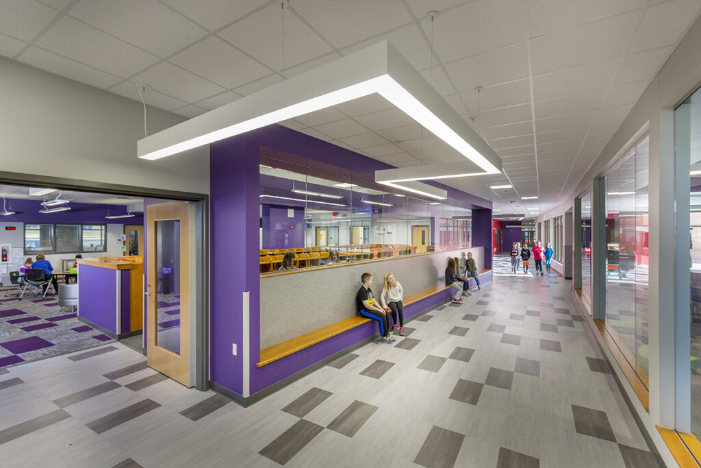
[[[197,333],[195,337],[195,388],[205,391],[209,389],[210,381],[210,196],[195,192],[179,192],[177,190],[156,189],[153,187],[134,187],[132,185],[111,184],[107,182],[95,182],[93,180],[80,180],[53,177],[50,175],[36,175],[25,173],[13,173],[0,171],[0,184],[20,185],[25,187],[55,187],[60,190],[77,190],[99,194],[116,194],[142,196],[154,199],[183,200],[196,202],[195,226],[196,226],[196,307],[191,313],[196,314]],[[145,286],[144,282],[144,286]],[[145,303],[144,295],[144,303]],[[144,307],[144,323],[146,323],[146,308]],[[145,339],[144,335],[144,339]],[[146,346],[144,343],[144,353]]]

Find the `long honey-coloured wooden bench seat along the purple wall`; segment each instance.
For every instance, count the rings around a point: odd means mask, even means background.
[[[404,307],[407,307],[407,305],[413,304],[414,302],[418,302],[422,299],[426,299],[426,297],[440,293],[449,287],[450,286],[434,286],[433,288],[428,288],[420,293],[408,295],[404,297]],[[273,361],[277,361],[278,359],[283,359],[285,356],[290,356],[290,354],[301,351],[302,349],[315,345],[318,342],[328,340],[330,337],[340,335],[345,331],[361,326],[363,323],[367,323],[369,321],[370,319],[366,319],[365,317],[361,316],[348,317],[348,319],[343,319],[339,322],[332,323],[329,326],[325,326],[324,328],[319,328],[318,330],[314,330],[310,333],[305,333],[304,335],[292,338],[292,340],[282,342],[279,345],[261,349],[260,362],[257,363],[256,366],[262,367]]]

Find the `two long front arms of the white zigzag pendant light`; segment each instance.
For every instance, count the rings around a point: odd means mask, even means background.
[[[480,173],[501,172],[501,158],[387,41],[149,135],[137,142],[137,156],[160,159],[373,93],[463,154]]]

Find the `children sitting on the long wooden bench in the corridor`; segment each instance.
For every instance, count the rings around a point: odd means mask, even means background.
[[[456,295],[453,297],[453,302],[463,302],[461,296],[469,296],[468,278],[472,277],[477,283],[477,289],[482,289],[479,286],[479,278],[477,276],[477,264],[472,258],[472,253],[468,252],[467,257],[463,252],[462,259],[449,258],[448,266],[445,269],[445,284],[456,289]],[[464,265],[461,266],[461,263]],[[463,271],[463,275],[460,271]],[[355,295],[355,306],[358,310],[358,315],[375,320],[379,323],[380,339],[383,342],[395,342],[396,338],[392,336],[404,336],[404,290],[402,285],[395,279],[393,273],[385,274],[385,279],[382,285],[380,294],[380,302],[378,304],[375,299],[372,289],[372,274],[363,273],[360,276],[362,286]]]

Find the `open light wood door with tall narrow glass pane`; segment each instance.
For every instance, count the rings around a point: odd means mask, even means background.
[[[148,365],[191,387],[190,288],[194,203],[147,206]],[[193,262],[192,262],[193,263]]]

